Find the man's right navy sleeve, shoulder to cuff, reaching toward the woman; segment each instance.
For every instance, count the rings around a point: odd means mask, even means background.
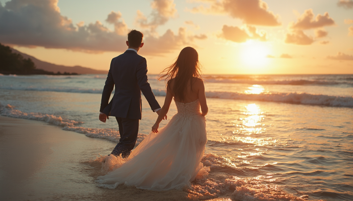
[[[138,86],[140,87],[141,92],[150,104],[152,111],[161,108],[152,92],[150,84],[147,82],[147,63],[145,58],[142,58],[137,66],[136,77]]]

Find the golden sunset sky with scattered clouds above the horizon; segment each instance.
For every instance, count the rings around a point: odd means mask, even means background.
[[[108,70],[127,33],[158,74],[181,49],[204,74],[353,74],[353,0],[0,0],[0,43]]]

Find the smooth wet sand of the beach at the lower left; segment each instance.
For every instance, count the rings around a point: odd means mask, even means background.
[[[190,200],[178,190],[96,187],[97,167],[87,162],[114,146],[47,123],[0,116],[1,200]]]

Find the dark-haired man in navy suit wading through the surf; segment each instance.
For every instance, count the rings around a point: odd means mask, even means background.
[[[142,48],[143,34],[132,30],[127,34],[128,49],[110,63],[106,84],[102,93],[99,120],[106,122],[114,116],[119,125],[120,140],[112,151],[112,155],[126,158],[135,146],[138,133],[138,123],[141,119],[141,92],[147,99],[153,112],[159,114],[161,109],[147,82],[146,59],[137,54]],[[115,84],[113,99],[110,94]]]

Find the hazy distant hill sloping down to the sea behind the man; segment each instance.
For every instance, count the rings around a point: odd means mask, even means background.
[[[82,66],[78,66],[78,65],[74,66],[74,67],[65,66],[65,65],[56,65],[53,63],[41,61],[35,57],[24,54],[18,50],[15,50],[12,48],[11,48],[11,50],[14,53],[22,55],[23,58],[25,58],[25,59],[28,59],[28,58],[32,59],[33,63],[36,66],[36,69],[43,69],[46,71],[52,71],[54,73],[60,71],[61,73],[67,72],[67,73],[78,73],[78,74],[108,74],[108,71],[106,71],[106,70],[95,70],[95,69],[86,68],[86,67],[82,67]]]

